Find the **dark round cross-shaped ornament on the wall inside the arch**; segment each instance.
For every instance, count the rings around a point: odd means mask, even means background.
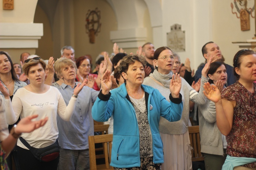
[[[101,27],[100,11],[98,10],[98,8],[95,8],[95,10],[93,11],[88,10],[85,22],[85,29],[86,33],[89,35],[90,43],[94,44],[95,36],[99,34]]]

